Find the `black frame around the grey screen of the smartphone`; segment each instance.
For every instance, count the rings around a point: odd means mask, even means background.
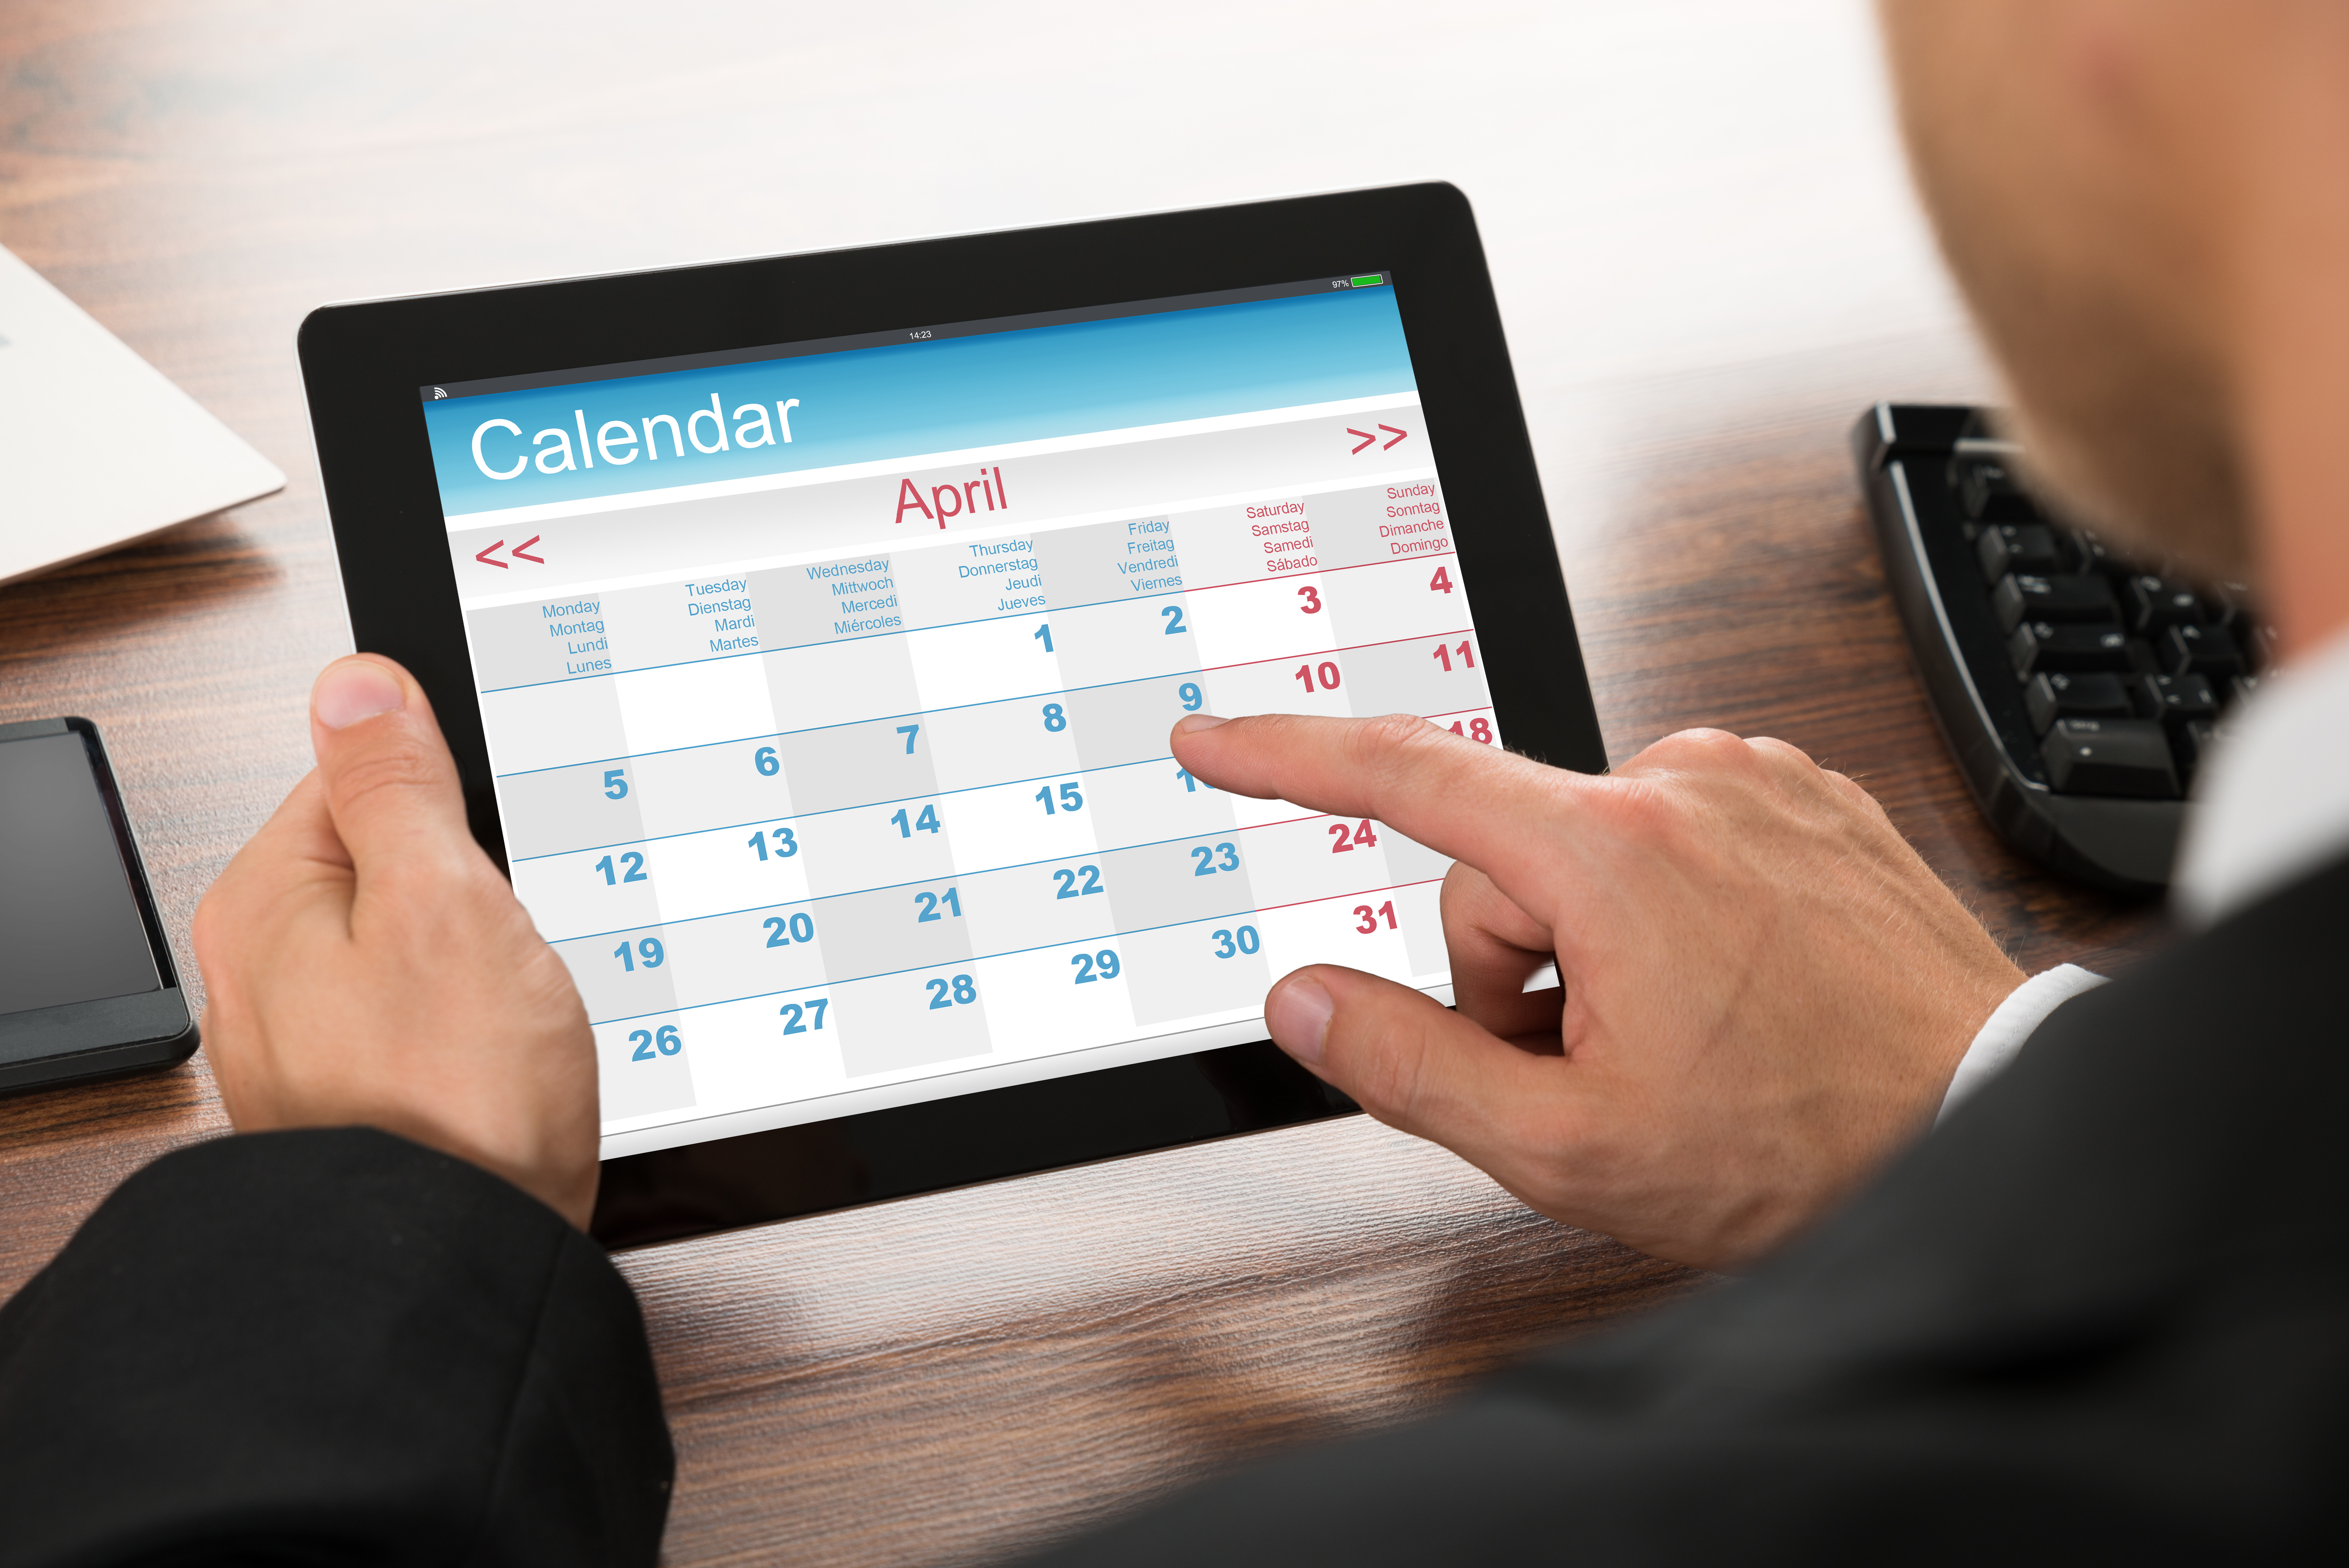
[[[0,1013],[0,1093],[56,1088],[127,1072],[176,1067],[195,1056],[197,1030],[188,1013],[188,994],[179,985],[179,964],[155,912],[155,891],[146,879],[146,860],[122,809],[106,741],[89,719],[23,719],[0,724],[0,745],[38,736],[78,736],[89,759],[92,785],[106,806],[106,825],[115,835],[122,877],[139,905],[139,929],[146,931],[148,957],[155,961],[157,987],[127,997],[94,997],[21,1013]]]

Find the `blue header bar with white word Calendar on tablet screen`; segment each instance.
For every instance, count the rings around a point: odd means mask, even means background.
[[[484,512],[1414,390],[1395,292],[1029,327],[423,404]]]

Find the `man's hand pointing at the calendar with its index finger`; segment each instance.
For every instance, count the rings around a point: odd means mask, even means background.
[[[1783,741],[1668,736],[1593,778],[1412,717],[1191,717],[1240,795],[1369,816],[1459,860],[1459,1013],[1315,964],[1273,1039],[1541,1213],[1736,1267],[1924,1128],[2022,983],[1884,809]],[[1557,990],[1525,992],[1557,957]]]

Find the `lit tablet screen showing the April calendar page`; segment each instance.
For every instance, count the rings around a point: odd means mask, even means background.
[[[1184,712],[1499,743],[1384,273],[423,388],[514,891],[604,1152],[1449,983],[1445,858]]]

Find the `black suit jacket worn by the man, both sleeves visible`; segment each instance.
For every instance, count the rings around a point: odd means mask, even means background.
[[[2344,950],[2337,865],[2058,1009],[1752,1279],[1045,1561],[2340,1552]],[[651,1563],[667,1479],[611,1265],[383,1133],[171,1154],[0,1309],[5,1563]]]

